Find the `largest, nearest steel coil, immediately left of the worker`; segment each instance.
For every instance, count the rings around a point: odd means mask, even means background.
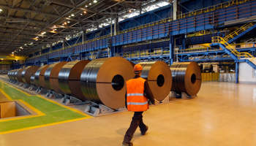
[[[135,74],[124,58],[99,58],[89,62],[80,77],[83,96],[112,109],[125,106],[126,81]]]

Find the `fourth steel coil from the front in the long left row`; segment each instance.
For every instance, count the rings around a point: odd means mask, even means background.
[[[45,71],[46,71],[46,69],[48,69],[48,66],[50,66],[50,65],[45,65],[45,66],[39,67],[39,69],[37,69],[37,72],[34,74],[34,84],[37,87],[46,88]]]

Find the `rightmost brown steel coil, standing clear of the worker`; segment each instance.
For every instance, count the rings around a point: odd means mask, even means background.
[[[170,66],[173,75],[171,91],[195,96],[201,87],[201,71],[195,62],[174,63]]]

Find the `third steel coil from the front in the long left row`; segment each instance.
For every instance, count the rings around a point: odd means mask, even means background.
[[[56,91],[56,93],[64,94],[59,88],[59,72],[61,68],[67,64],[67,61],[58,62],[48,66],[48,69],[45,71],[45,88],[48,90]]]

